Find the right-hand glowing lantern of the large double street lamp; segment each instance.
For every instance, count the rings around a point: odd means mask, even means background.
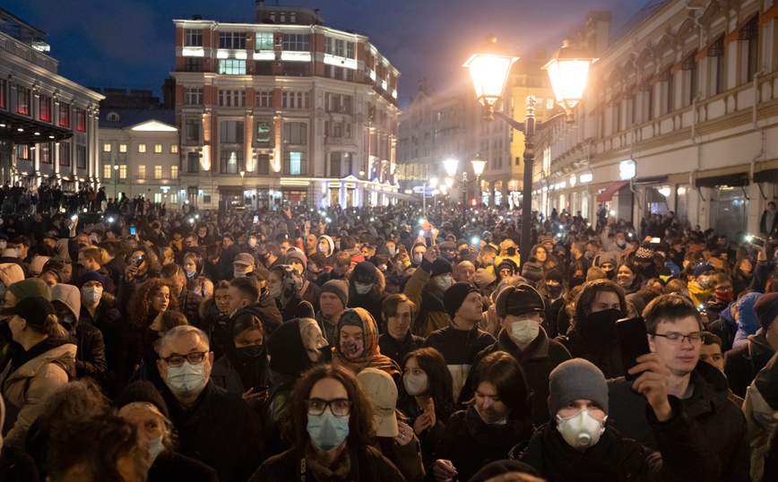
[[[549,73],[551,87],[554,88],[557,103],[565,109],[568,124],[575,122],[573,108],[583,99],[589,66],[598,60],[588,54],[585,48],[570,47],[565,40],[549,63],[542,67]]]

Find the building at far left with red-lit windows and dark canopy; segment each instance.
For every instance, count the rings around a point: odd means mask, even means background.
[[[0,9],[0,182],[97,187],[103,96],[57,74],[46,33]]]

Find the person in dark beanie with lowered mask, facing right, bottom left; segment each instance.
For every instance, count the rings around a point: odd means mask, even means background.
[[[151,468],[147,482],[216,480],[214,469],[176,452],[168,406],[153,383],[130,383],[119,392],[115,405],[117,415],[134,424],[138,438],[148,446]]]

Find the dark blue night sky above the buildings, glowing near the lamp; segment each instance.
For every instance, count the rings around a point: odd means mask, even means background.
[[[318,8],[324,24],[366,35],[402,73],[401,108],[416,92],[416,82],[445,93],[469,82],[462,63],[488,33],[518,48],[553,53],[586,13],[613,13],[611,33],[648,0],[287,0],[268,4]],[[175,64],[172,19],[255,22],[253,0],[35,0],[4,8],[48,33],[50,55],[59,73],[87,87],[153,90]]]

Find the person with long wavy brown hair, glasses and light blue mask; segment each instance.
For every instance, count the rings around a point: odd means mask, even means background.
[[[348,370],[315,366],[298,382],[287,406],[281,431],[292,448],[265,460],[250,482],[404,480],[373,447],[375,410]]]

